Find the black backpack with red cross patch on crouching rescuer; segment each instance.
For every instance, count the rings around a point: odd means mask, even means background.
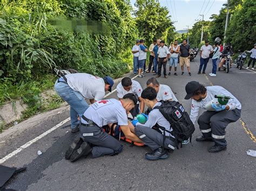
[[[154,107],[154,109],[159,109],[161,114],[171,124],[173,131],[170,132],[165,128],[159,127],[159,125],[158,128],[171,133],[178,140],[178,143],[191,138],[194,132],[194,124],[190,120],[190,116],[188,116],[183,106],[176,101],[161,100],[160,102],[162,104]]]

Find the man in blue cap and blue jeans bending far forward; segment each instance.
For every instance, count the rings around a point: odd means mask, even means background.
[[[55,83],[57,94],[70,105],[71,132],[79,131],[78,116],[82,117],[89,107],[85,99],[91,103],[102,100],[105,91],[111,91],[114,81],[86,73],[67,74]]]

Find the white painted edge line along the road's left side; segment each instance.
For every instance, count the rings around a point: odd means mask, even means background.
[[[135,79],[138,75],[132,77],[132,80]],[[110,93],[106,94],[104,96],[107,97],[111,94],[113,94],[117,89],[112,90]],[[33,143],[37,142],[39,139],[42,139],[43,137],[45,137],[46,135],[48,135],[50,132],[58,129],[60,126],[62,126],[63,124],[65,124],[66,122],[70,121],[70,117],[66,118],[64,121],[60,122],[59,124],[53,126],[53,128],[49,129],[48,131],[45,131],[44,133],[42,133],[41,135],[39,135],[38,137],[30,140],[28,143],[25,143],[24,145],[22,145],[21,147],[17,148],[15,151],[12,151],[10,154],[6,155],[4,158],[0,159],[0,164],[3,164],[3,162],[5,162],[6,160],[10,159],[11,157],[14,157],[16,154],[18,154],[19,152],[21,152],[24,148],[29,147],[30,145],[32,145]]]

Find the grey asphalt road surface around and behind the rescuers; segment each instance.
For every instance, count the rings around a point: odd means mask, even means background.
[[[130,147],[124,143],[124,151],[114,157],[80,159],[71,163],[64,159],[66,148],[77,136],[69,128],[57,128],[42,139],[31,144],[4,165],[26,166],[27,171],[14,177],[6,188],[17,190],[255,190],[256,158],[246,154],[256,150],[255,114],[256,73],[232,68],[229,74],[218,72],[217,77],[198,75],[198,58],[191,62],[192,76],[161,77],[160,83],[168,84],[176,97],[190,110],[190,100],[184,100],[185,84],[197,80],[206,86],[220,85],[230,90],[242,103],[242,121],[228,125],[227,151],[208,153],[212,143],[198,143],[198,126],[192,145],[174,151],[166,160],[148,161],[144,158],[147,147]],[[211,60],[207,73],[211,72]],[[146,80],[136,79],[143,88]],[[109,97],[117,98],[116,92]],[[41,135],[69,117],[68,107],[30,119],[19,124],[19,130],[11,138],[1,138],[0,158],[16,150],[29,140]],[[68,124],[68,123],[66,123]],[[65,124],[65,125],[66,125]],[[247,131],[247,133],[246,133]],[[249,135],[251,133],[251,136]],[[253,141],[254,140],[254,141]],[[37,155],[41,150],[43,154]]]

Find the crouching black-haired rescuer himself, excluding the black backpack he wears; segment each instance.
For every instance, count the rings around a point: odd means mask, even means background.
[[[158,109],[161,103],[157,101],[157,92],[154,88],[148,87],[144,89],[142,91],[142,98],[147,107],[153,108],[153,110],[150,112],[145,124],[139,122],[135,124],[135,134],[153,151],[145,154],[146,159],[166,159],[168,158],[167,150],[173,151],[177,146],[176,138],[169,133],[172,131],[171,124]],[[169,132],[157,128],[158,126]]]

